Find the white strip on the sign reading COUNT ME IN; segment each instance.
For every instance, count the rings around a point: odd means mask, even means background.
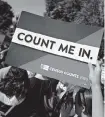
[[[82,45],[54,37],[17,28],[13,43],[41,50],[51,54],[96,64],[99,48]]]

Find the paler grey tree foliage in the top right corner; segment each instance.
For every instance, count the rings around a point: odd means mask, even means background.
[[[103,0],[83,0],[83,8],[78,12],[75,22],[92,26],[104,26]]]

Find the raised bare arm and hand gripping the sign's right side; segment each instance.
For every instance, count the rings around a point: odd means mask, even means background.
[[[104,117],[104,104],[101,92],[101,62],[97,62],[95,69],[89,64],[92,82],[92,117]]]

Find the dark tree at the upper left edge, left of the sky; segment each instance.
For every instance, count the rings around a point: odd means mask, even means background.
[[[12,7],[2,0],[0,0],[0,32],[6,34],[12,25],[12,18],[14,14]]]

